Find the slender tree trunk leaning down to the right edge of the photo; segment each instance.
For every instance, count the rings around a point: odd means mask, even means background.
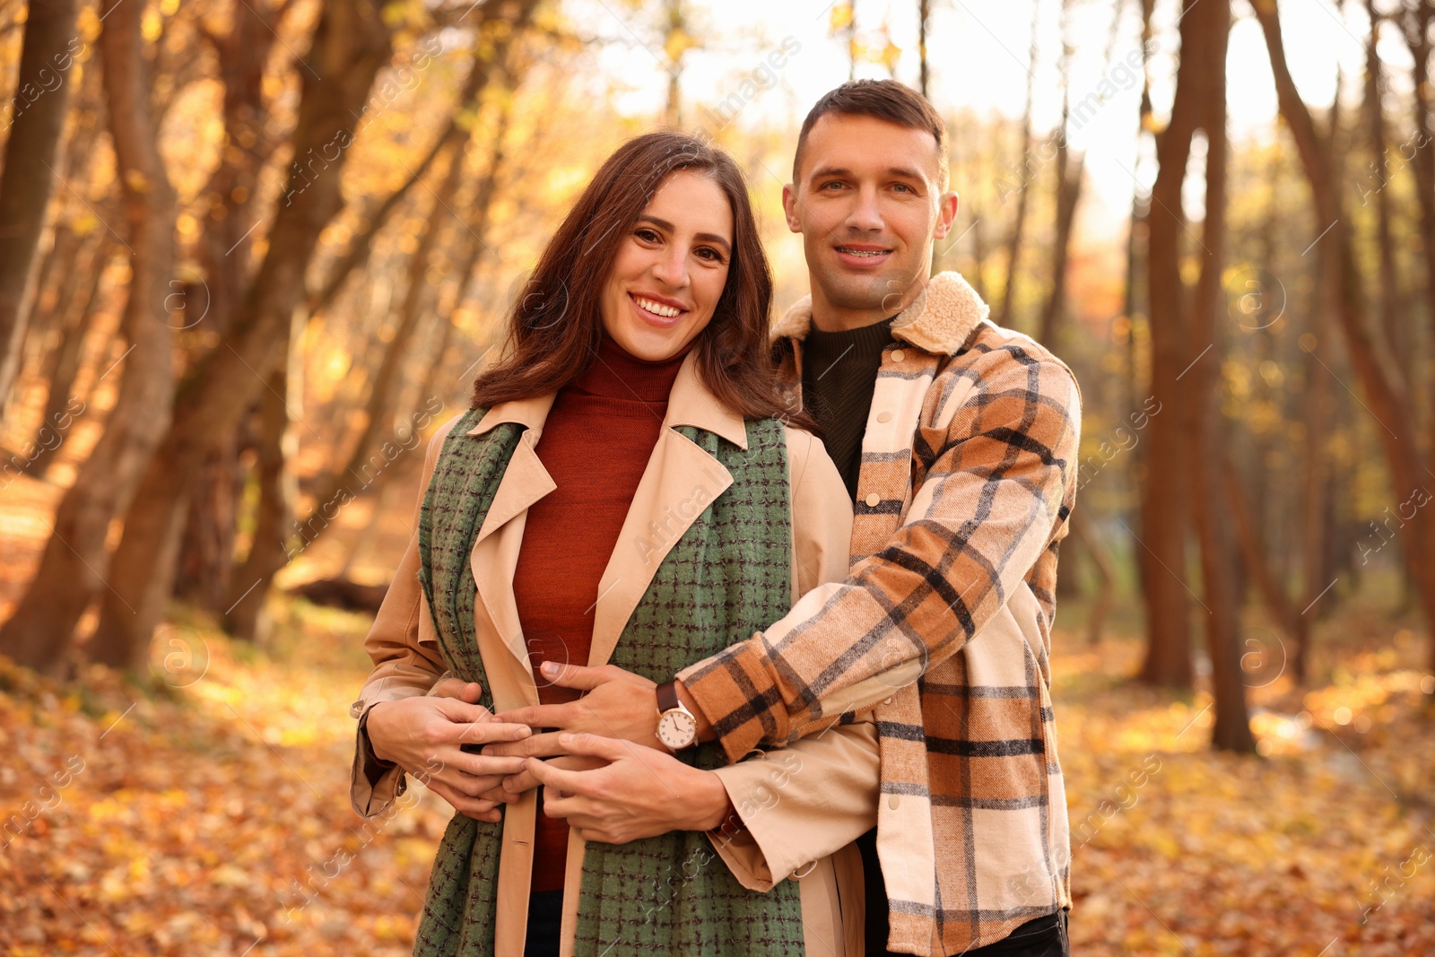
[[[1393,357],[1376,346],[1366,323],[1366,296],[1359,267],[1352,248],[1349,218],[1340,194],[1340,179],[1335,174],[1330,156],[1322,149],[1322,138],[1316,132],[1310,108],[1300,99],[1296,83],[1286,63],[1286,47],[1280,33],[1280,19],[1274,0],[1254,0],[1251,9],[1266,34],[1266,49],[1270,55],[1271,73],[1276,77],[1276,95],[1280,113],[1286,119],[1300,162],[1310,181],[1314,197],[1316,230],[1329,230],[1320,242],[1330,242],[1339,268],[1340,296],[1336,316],[1345,334],[1366,406],[1376,423],[1376,435],[1385,452],[1398,502],[1409,502],[1419,489],[1429,488],[1429,472],[1421,461],[1419,430],[1411,407],[1411,390],[1401,376]],[[1426,121],[1428,122],[1428,121]],[[1431,146],[1426,145],[1426,149]],[[1325,224],[1329,224],[1325,225]],[[1435,442],[1428,445],[1435,446]],[[1398,506],[1399,508],[1399,506]],[[1403,512],[1401,515],[1405,518]],[[1435,509],[1415,508],[1402,525],[1402,554],[1411,577],[1419,588],[1419,601],[1428,628],[1435,628]],[[1435,641],[1431,641],[1431,664],[1435,667]]]

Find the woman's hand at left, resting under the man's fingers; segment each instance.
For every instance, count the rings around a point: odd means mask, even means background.
[[[498,805],[479,795],[522,770],[524,760],[468,753],[462,746],[521,740],[532,732],[527,725],[495,720],[486,707],[465,699],[478,700],[478,684],[449,689],[443,696],[379,702],[369,709],[364,729],[376,758],[403,768],[455,811],[497,822],[502,816]]]

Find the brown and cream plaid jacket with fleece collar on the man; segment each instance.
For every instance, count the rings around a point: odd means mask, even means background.
[[[888,947],[913,954],[959,954],[1071,907],[1049,656],[1081,393],[986,316],[941,273],[897,317],[847,581],[680,674],[732,760],[875,706]],[[802,300],[773,329],[792,341],[794,389],[809,323]]]

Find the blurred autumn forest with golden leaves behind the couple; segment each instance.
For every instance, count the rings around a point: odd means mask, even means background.
[[[428,438],[601,159],[946,116],[960,270],[1083,393],[1082,954],[1435,953],[1431,0],[0,0],[0,947],[403,954],[349,809]]]

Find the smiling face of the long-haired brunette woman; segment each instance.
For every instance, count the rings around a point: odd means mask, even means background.
[[[618,244],[603,329],[637,359],[677,354],[712,321],[732,263],[732,208],[702,172],[679,169]]]

